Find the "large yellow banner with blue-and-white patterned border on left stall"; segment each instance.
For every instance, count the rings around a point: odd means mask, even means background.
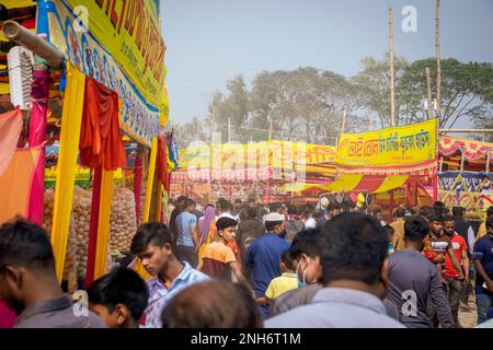
[[[53,0],[49,40],[123,100],[121,127],[151,147],[165,121],[165,45],[152,0]]]

